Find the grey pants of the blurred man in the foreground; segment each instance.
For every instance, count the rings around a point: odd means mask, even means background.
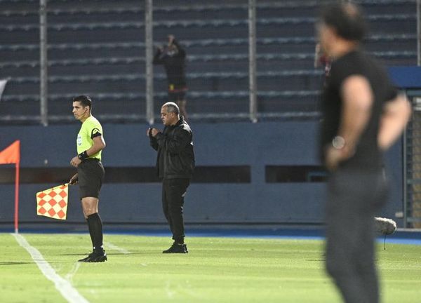
[[[387,201],[384,171],[339,168],[328,182],[326,269],[344,302],[378,303],[375,210]]]

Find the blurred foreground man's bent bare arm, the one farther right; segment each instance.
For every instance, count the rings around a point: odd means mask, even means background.
[[[410,104],[404,95],[398,95],[387,102],[380,119],[377,142],[382,150],[387,150],[401,135],[410,117]]]

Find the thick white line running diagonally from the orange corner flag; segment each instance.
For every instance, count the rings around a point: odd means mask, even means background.
[[[16,241],[18,241],[19,245],[22,248],[25,248],[29,255],[31,255],[32,260],[38,265],[38,268],[41,272],[54,283],[55,288],[61,293],[61,295],[70,303],[88,303],[89,301],[82,297],[82,295],[73,288],[72,284],[69,281],[65,280],[61,276],[59,276],[51,267],[51,265],[46,262],[44,257],[39,253],[39,250],[31,246],[25,239],[24,236],[20,234],[12,234],[15,237]]]

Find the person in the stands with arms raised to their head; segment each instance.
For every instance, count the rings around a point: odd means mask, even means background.
[[[168,44],[159,47],[154,56],[154,65],[165,67],[168,81],[168,101],[178,105],[180,114],[187,121],[185,60],[186,52],[173,35],[168,36]]]

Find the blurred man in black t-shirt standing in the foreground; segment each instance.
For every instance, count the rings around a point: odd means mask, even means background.
[[[327,6],[317,24],[333,58],[323,94],[321,154],[330,171],[326,269],[347,303],[377,303],[373,216],[387,200],[382,154],[410,116],[385,69],[360,44],[365,22],[351,3]]]

